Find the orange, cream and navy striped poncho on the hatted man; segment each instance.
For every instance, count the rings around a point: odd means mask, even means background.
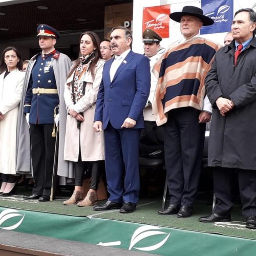
[[[153,102],[157,125],[167,122],[172,109],[191,106],[202,110],[204,79],[220,45],[202,37],[171,44],[153,68],[158,83]]]

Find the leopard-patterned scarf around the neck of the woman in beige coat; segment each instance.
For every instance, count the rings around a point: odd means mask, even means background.
[[[74,72],[74,77],[72,82],[71,98],[74,103],[80,100],[84,95],[85,84],[82,82],[81,78],[83,74],[85,74],[86,71],[90,69],[92,62],[94,60],[94,57],[95,57],[94,52],[86,56],[82,55],[80,57],[80,61]]]

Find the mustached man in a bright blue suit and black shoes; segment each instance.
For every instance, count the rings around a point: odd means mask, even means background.
[[[131,51],[131,44],[128,29],[112,29],[115,58],[105,63],[94,118],[95,131],[104,130],[110,198],[94,210],[121,208],[121,213],[129,213],[139,199],[139,137],[151,78],[148,58]]]

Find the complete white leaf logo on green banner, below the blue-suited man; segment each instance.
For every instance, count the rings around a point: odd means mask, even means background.
[[[158,234],[167,234],[166,232],[158,231],[159,229],[161,228],[156,226],[151,226],[151,225],[145,225],[137,228],[131,238],[129,250],[131,250],[132,248],[135,248],[141,251],[153,251],[160,248],[167,241],[167,239],[170,236],[170,233],[168,233],[168,235],[160,243],[157,243],[155,245],[147,246],[147,247],[134,247],[139,241],[143,240],[144,238],[156,236]]]

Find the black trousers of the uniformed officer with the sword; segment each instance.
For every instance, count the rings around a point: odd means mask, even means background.
[[[31,158],[35,186],[33,194],[50,196],[55,138],[53,124],[30,124]]]

